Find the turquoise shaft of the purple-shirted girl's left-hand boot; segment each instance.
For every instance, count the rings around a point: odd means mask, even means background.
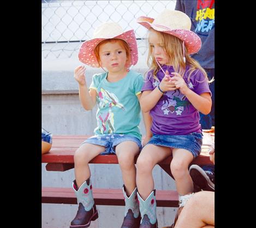
[[[137,193],[137,195],[140,201],[140,224],[142,223],[144,214],[146,214],[150,219],[151,224],[155,224],[157,221],[157,203],[156,196],[154,196],[154,191],[151,192],[145,201],[140,197],[139,193]]]

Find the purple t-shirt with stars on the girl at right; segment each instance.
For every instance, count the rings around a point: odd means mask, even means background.
[[[172,66],[162,65],[164,72],[169,71],[171,75],[174,72]],[[190,75],[188,81],[189,67],[186,67],[183,79],[187,83],[188,88],[197,94],[210,93],[209,84],[205,80],[205,76],[200,70],[195,70]],[[153,70],[149,71],[141,91],[152,91],[159,84],[152,76]],[[157,73],[159,81],[162,81],[164,73],[159,70]],[[203,81],[203,82],[201,82]],[[189,102],[179,89],[175,91],[165,92],[159,99],[156,106],[150,111],[152,116],[151,131],[157,135],[187,135],[192,132],[201,133],[201,125],[199,123],[199,112]]]

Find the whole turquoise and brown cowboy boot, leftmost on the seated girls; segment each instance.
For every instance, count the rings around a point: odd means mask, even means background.
[[[76,181],[73,181],[73,189],[78,199],[78,212],[70,224],[70,228],[85,228],[90,226],[91,221],[98,218],[98,211],[92,196],[92,184],[88,178],[78,189]]]

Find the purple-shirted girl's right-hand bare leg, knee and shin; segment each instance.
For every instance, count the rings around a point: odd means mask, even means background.
[[[192,178],[188,172],[188,165],[193,160],[193,154],[186,149],[172,149],[171,173],[175,178],[178,194],[186,195],[194,190]]]

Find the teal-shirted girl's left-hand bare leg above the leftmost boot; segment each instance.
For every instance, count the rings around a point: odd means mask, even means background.
[[[105,151],[105,147],[98,146],[90,143],[82,144],[75,152],[75,180],[78,188],[84,183],[90,176],[90,168],[88,163],[97,155]]]

